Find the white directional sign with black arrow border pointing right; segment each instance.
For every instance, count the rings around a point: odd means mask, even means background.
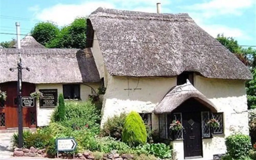
[[[57,150],[58,151],[74,151],[77,143],[74,138],[58,138]]]

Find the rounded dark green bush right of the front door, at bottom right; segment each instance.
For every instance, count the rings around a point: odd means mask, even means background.
[[[251,138],[244,134],[235,134],[228,136],[225,141],[227,153],[231,158],[243,159],[249,155],[252,149]]]

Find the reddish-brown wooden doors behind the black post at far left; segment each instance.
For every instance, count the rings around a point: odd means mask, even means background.
[[[18,128],[17,82],[1,84],[1,90],[6,91],[5,124],[6,129]],[[22,96],[30,96],[35,91],[35,85],[22,83]],[[36,127],[36,107],[22,108],[23,127]]]

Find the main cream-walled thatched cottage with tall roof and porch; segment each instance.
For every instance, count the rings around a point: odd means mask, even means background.
[[[188,14],[98,8],[87,24],[87,45],[107,88],[102,124],[122,112],[142,113],[172,140],[178,160],[210,160],[226,152],[226,136],[248,134],[250,71]],[[209,127],[212,118],[219,127]],[[173,120],[183,129],[170,130]]]

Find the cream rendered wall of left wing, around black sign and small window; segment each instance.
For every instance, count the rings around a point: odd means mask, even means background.
[[[100,87],[100,83],[86,83],[97,92],[97,89]],[[57,89],[58,95],[60,93],[63,94],[63,84],[36,84],[36,91],[41,89]],[[92,95],[92,90],[90,87],[80,84],[80,98],[82,101],[88,100],[88,95]],[[50,122],[50,116],[54,111],[53,108],[40,108],[39,102],[36,102],[36,118],[37,118],[37,126],[47,126]]]

